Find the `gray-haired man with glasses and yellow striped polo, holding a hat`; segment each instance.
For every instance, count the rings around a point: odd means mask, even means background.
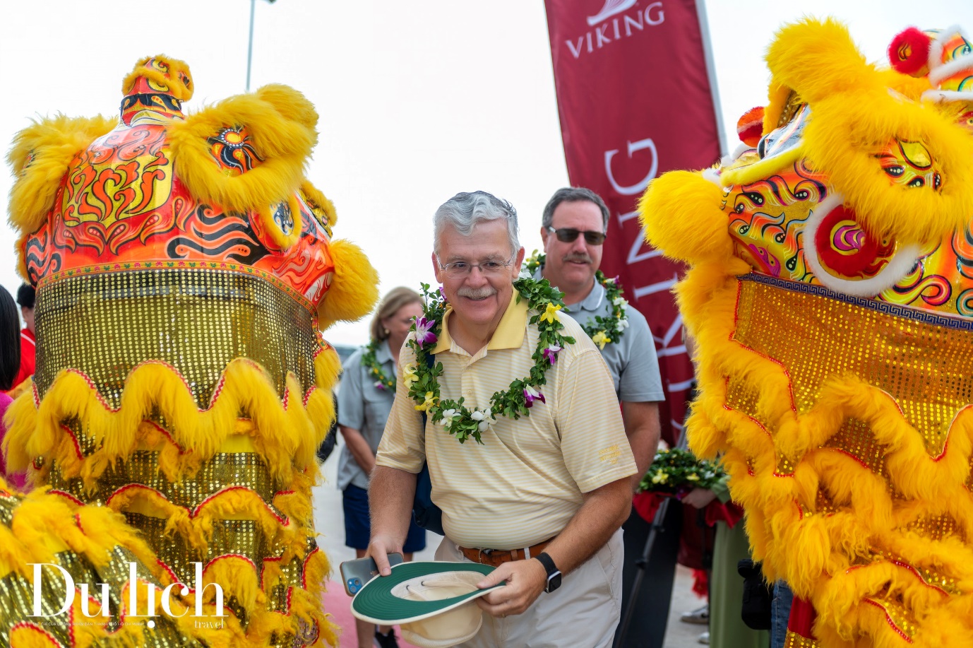
[[[440,396],[483,410],[539,365],[545,314],[517,298],[523,248],[509,203],[457,194],[434,225],[432,262],[448,302],[430,343]],[[423,426],[403,373],[378,446],[369,553],[379,572],[389,573],[387,553],[402,551],[427,462],[446,531],[437,559],[496,566],[481,588],[507,583],[477,599],[484,623],[463,645],[609,646],[619,621],[620,526],[636,468],[605,363],[580,325],[559,321],[574,342],[549,349],[556,362],[528,415],[495,414],[481,426],[482,443],[461,444],[436,416]],[[415,362],[408,343],[402,357],[404,367]]]

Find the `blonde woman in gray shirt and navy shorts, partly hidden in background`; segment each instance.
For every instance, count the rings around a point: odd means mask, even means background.
[[[395,400],[399,351],[406,341],[413,319],[422,315],[422,298],[411,288],[392,288],[378,304],[372,319],[372,340],[344,363],[342,385],[338,390],[338,427],[344,447],[338,463],[338,488],[342,490],[344,544],[365,557],[372,527],[368,509],[368,484],[375,468],[378,441]],[[425,530],[415,522],[403,546],[406,560],[425,549]],[[395,646],[389,628],[379,628],[355,620],[358,645]]]

